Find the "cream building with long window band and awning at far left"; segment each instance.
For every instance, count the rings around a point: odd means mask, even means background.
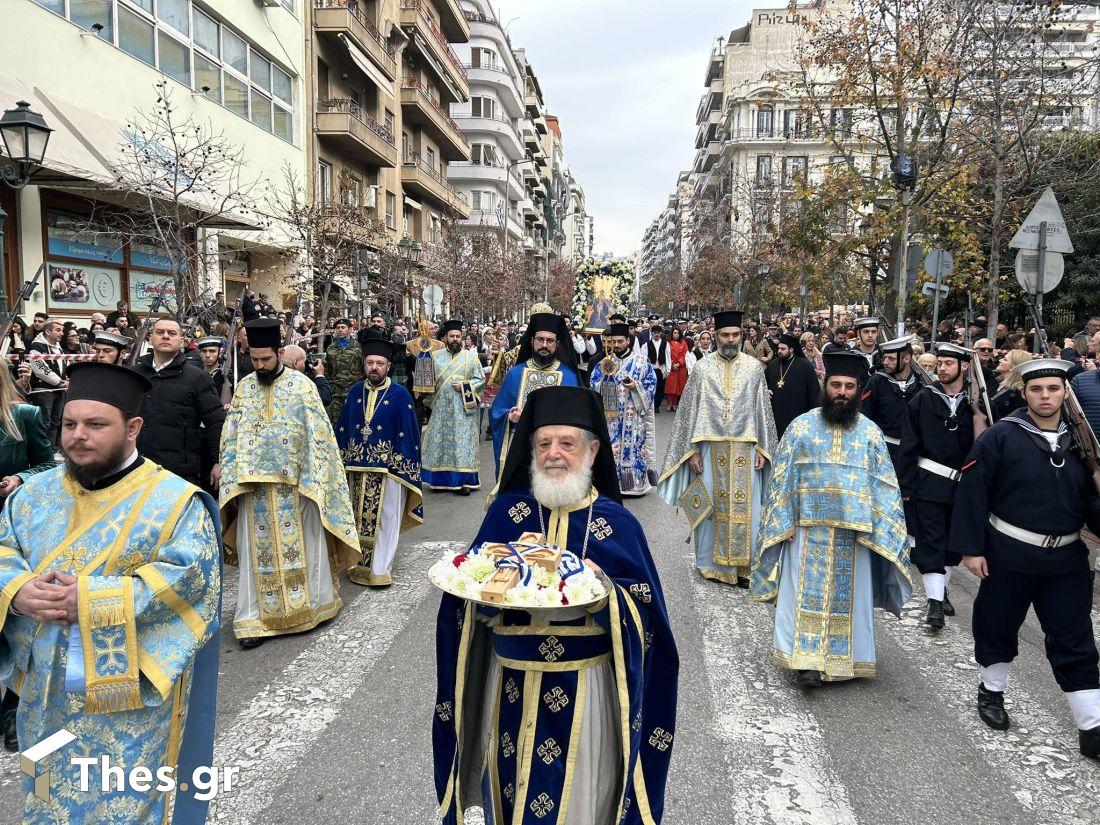
[[[6,0],[0,108],[25,100],[54,130],[32,183],[18,193],[0,186],[7,295],[40,265],[45,274],[24,314],[86,321],[118,300],[145,312],[170,288],[164,250],[96,231],[105,209],[128,209],[117,164],[124,142],[141,141],[128,123],[153,111],[156,84],[177,122],[194,118],[249,147],[244,177],[276,180],[286,166],[305,168],[302,2]],[[206,223],[194,241],[207,296],[221,289],[232,301],[250,284],[275,302],[290,299],[280,227],[255,213],[210,226],[209,205],[194,206]],[[261,194],[256,212],[265,210]],[[85,286],[50,286],[66,279]]]

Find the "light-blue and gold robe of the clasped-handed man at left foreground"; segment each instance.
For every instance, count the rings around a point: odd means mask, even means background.
[[[21,697],[25,750],[62,728],[76,740],[24,777],[26,823],[166,823],[169,793],[81,791],[74,757],[191,782],[210,766],[218,679],[221,546],[213,501],[145,460],[116,484],[86,491],[63,468],[28,479],[0,515],[0,679]],[[35,575],[77,578],[70,627],[9,614]],[[156,780],[154,778],[154,784]],[[175,794],[170,822],[201,823],[195,789]]]

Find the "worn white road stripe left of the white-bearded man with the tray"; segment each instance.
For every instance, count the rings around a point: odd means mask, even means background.
[[[453,542],[422,542],[405,551],[407,566],[421,570]],[[293,768],[339,714],[342,705],[389,649],[428,596],[428,582],[409,574],[378,591],[367,590],[345,605],[312,640],[222,728],[215,766],[237,767],[238,784],[211,805],[210,821],[250,825],[293,776]]]

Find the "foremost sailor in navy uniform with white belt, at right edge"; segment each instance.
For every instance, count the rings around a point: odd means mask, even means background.
[[[1016,367],[1027,406],[994,424],[970,451],[948,547],[981,580],[974,644],[982,722],[997,730],[1009,727],[1005,683],[1020,627],[1034,607],[1080,752],[1100,759],[1100,657],[1088,549],[1080,538],[1086,525],[1100,530],[1100,497],[1062,419],[1070,367],[1055,359]]]

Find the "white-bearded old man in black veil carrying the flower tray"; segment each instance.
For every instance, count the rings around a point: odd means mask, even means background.
[[[443,596],[432,739],[444,825],[470,805],[513,825],[661,821],[679,661],[646,536],[619,502],[600,396],[532,393],[474,543],[543,532],[614,592],[553,610]]]

